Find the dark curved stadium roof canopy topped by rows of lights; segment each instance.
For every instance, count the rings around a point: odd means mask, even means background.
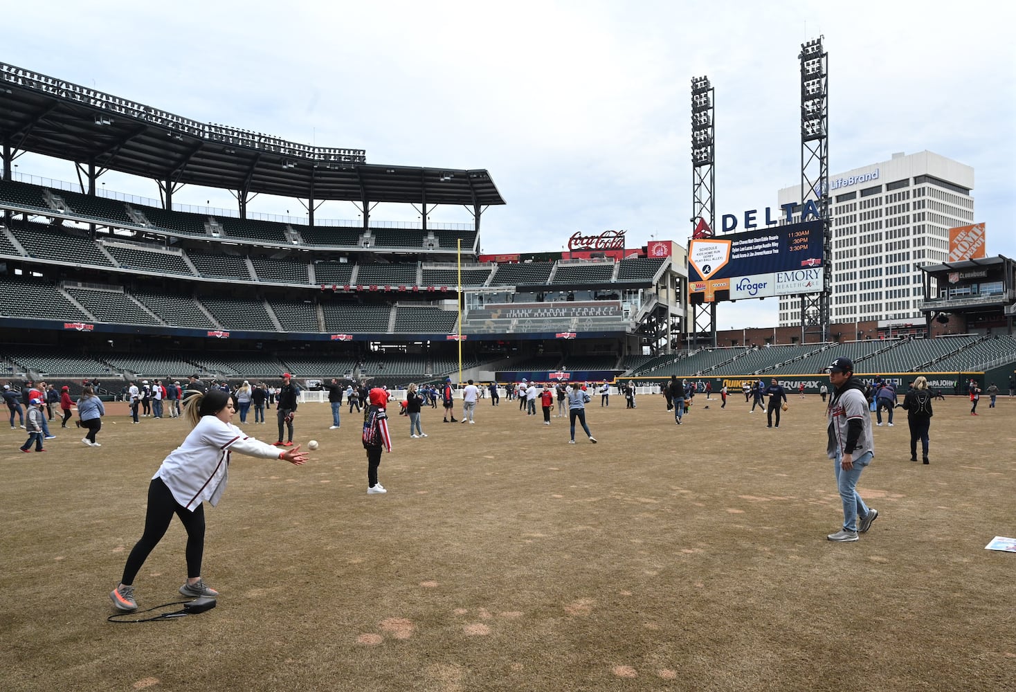
[[[485,170],[367,164],[363,149],[310,146],[200,123],[128,99],[0,63],[5,175],[17,151],[182,185],[364,204],[504,204]],[[365,214],[366,215],[366,214]],[[479,213],[477,213],[479,217]],[[479,223],[479,218],[478,218]]]

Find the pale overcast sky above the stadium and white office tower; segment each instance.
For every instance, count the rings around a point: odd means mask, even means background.
[[[2,60],[202,122],[372,164],[487,169],[507,205],[485,252],[561,250],[576,231],[687,246],[690,80],[716,90],[716,212],[775,207],[800,182],[801,44],[829,53],[830,173],[929,149],[973,167],[989,255],[1016,257],[1016,49],[1009,2],[17,3]],[[76,180],[22,156],[18,171]],[[157,197],[115,174],[106,189]],[[236,208],[225,191],[175,201]],[[303,212],[258,197],[252,211]],[[356,218],[348,203],[320,218]],[[415,221],[380,205],[373,218]],[[461,207],[437,222],[471,223]],[[777,301],[721,305],[771,326]]]

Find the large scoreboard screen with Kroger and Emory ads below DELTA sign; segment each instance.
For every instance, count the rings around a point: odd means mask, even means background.
[[[688,245],[690,303],[820,293],[822,221],[695,239]]]

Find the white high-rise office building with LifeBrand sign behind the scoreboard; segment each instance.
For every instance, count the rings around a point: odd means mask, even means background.
[[[829,177],[832,296],[829,321],[919,322],[918,266],[949,253],[949,229],[974,223],[973,169],[932,151]],[[801,200],[801,186],[778,192]],[[800,211],[799,211],[800,213]],[[779,325],[801,324],[801,299],[779,299]]]

